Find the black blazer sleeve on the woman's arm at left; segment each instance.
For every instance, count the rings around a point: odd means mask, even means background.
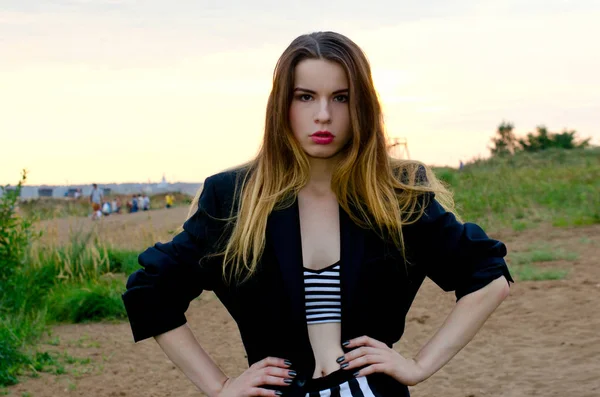
[[[198,210],[184,223],[183,231],[141,253],[142,268],[128,278],[123,302],[136,342],[185,324],[189,303],[218,282],[220,268],[209,266],[210,261],[200,263],[221,230],[214,219],[219,200],[211,178],[205,181]]]

